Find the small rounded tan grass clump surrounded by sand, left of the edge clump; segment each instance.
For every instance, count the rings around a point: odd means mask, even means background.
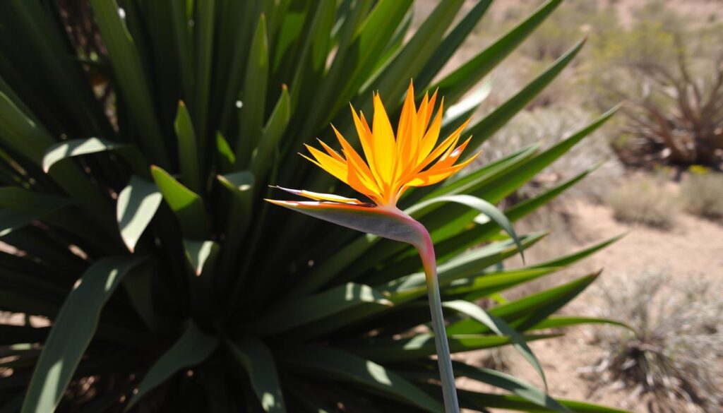
[[[678,211],[677,200],[654,178],[625,182],[612,190],[607,203],[617,221],[641,223],[659,229],[670,229]]]

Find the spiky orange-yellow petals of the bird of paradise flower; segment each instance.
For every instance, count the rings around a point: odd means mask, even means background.
[[[304,158],[346,182],[375,204],[394,206],[408,187],[436,184],[467,166],[476,157],[475,155],[467,161],[455,164],[469,143],[468,138],[458,145],[461,132],[469,120],[437,145],[442,126],[444,98],[430,125],[429,120],[432,119],[436,100],[436,92],[432,98],[425,94],[417,109],[414,104],[414,85],[410,82],[395,135],[382,99],[379,94],[375,94],[371,128],[367,119],[364,119],[364,114],[356,114],[354,107],[351,108],[366,160],[361,158],[336,128],[333,129],[341,143],[341,154],[320,140],[324,151],[307,145],[312,158]],[[303,192],[304,194],[299,195],[317,200],[359,203],[358,200],[350,198],[340,199],[325,194]]]

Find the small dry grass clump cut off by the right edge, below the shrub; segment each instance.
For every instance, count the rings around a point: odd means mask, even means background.
[[[706,218],[723,218],[723,174],[692,173],[680,185],[685,209]]]

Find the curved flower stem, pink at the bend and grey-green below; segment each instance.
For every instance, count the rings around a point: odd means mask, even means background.
[[[406,214],[405,214],[406,215]],[[429,231],[413,218],[407,216],[420,236],[419,242],[414,246],[422,258],[424,274],[427,278],[427,297],[429,297],[429,310],[432,312],[432,331],[435,333],[435,346],[437,348],[437,364],[440,366],[442,378],[442,396],[445,400],[445,412],[458,413],[459,403],[452,371],[452,358],[450,357],[450,346],[447,341],[445,330],[445,318],[442,315],[442,297],[440,297],[440,284],[437,281],[437,260],[435,258],[435,246],[429,237]]]

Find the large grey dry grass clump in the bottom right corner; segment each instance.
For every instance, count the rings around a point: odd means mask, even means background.
[[[623,321],[632,331],[595,329],[604,356],[591,378],[650,393],[661,401],[683,401],[689,412],[723,407],[723,299],[696,277],[671,282],[661,272],[599,287],[597,312]]]

